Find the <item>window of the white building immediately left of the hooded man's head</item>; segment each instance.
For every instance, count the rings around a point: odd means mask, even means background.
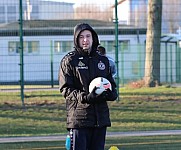
[[[72,41],[55,41],[54,42],[54,52],[55,53],[63,53],[69,52],[73,48]]]

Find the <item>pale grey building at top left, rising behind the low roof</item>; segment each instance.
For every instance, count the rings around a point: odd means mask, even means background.
[[[23,20],[73,19],[73,3],[48,0],[23,0]],[[19,1],[0,1],[0,23],[10,23],[19,19]]]

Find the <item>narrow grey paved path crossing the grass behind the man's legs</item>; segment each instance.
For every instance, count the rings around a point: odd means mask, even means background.
[[[181,130],[161,131],[135,131],[135,132],[107,132],[107,137],[128,136],[154,136],[154,135],[181,135]],[[0,143],[33,142],[33,141],[65,141],[66,135],[29,136],[29,137],[4,137]]]

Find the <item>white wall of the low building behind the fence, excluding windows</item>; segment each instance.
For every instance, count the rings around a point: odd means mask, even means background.
[[[114,41],[114,35],[100,35],[101,41]],[[119,35],[119,41],[130,41],[129,49],[123,51],[118,47],[118,62],[120,79],[138,80],[144,76],[145,63],[145,38],[146,35]],[[73,36],[25,36],[24,41],[40,41],[39,53],[24,53],[24,79],[25,81],[51,81],[51,50],[53,51],[53,77],[58,80],[60,60],[67,52],[54,53],[54,41],[72,41]],[[8,41],[19,41],[19,37],[1,37],[0,39],[0,82],[19,82],[20,80],[20,55],[8,53]],[[100,43],[101,43],[100,41]],[[73,41],[72,41],[73,42]],[[139,43],[138,43],[139,42]],[[175,44],[161,44],[160,80],[176,82],[176,49]],[[70,48],[70,51],[73,48]],[[114,51],[107,53],[115,59]]]

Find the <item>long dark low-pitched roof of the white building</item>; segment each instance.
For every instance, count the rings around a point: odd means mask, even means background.
[[[72,20],[26,20],[23,21],[23,32],[25,36],[35,35],[72,35],[73,28],[78,23],[90,24],[98,34],[114,34],[115,24],[93,19],[72,19]],[[146,34],[146,29],[138,29],[134,26],[119,25],[119,32],[124,34]],[[129,33],[128,33],[129,32]],[[18,36],[19,22],[12,22],[0,25],[0,36]],[[120,34],[120,33],[119,33]]]

